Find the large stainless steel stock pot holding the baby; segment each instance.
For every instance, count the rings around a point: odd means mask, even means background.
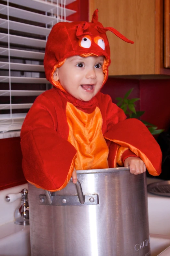
[[[31,255],[150,256],[146,173],[77,175],[80,184],[53,193],[28,184]]]

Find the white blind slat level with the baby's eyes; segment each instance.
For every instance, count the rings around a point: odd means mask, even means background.
[[[0,61],[0,69],[9,69],[9,63]],[[11,70],[25,70],[25,71],[36,71],[43,72],[43,65],[34,65],[34,64],[22,64],[22,63],[10,63]]]

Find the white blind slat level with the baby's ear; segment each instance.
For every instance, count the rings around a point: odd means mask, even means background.
[[[49,84],[46,78],[35,77],[10,77],[11,83],[35,83],[35,84]],[[0,82],[9,83],[9,77],[0,76]]]

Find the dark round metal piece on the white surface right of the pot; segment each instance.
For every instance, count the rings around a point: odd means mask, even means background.
[[[170,180],[154,182],[147,186],[148,192],[159,196],[170,196]]]

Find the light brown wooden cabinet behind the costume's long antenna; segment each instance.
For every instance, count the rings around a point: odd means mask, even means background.
[[[111,50],[110,76],[170,75],[169,2],[89,0],[90,19],[93,11],[98,8],[99,21],[103,26],[112,26],[135,42],[125,43],[111,32],[106,32]]]

